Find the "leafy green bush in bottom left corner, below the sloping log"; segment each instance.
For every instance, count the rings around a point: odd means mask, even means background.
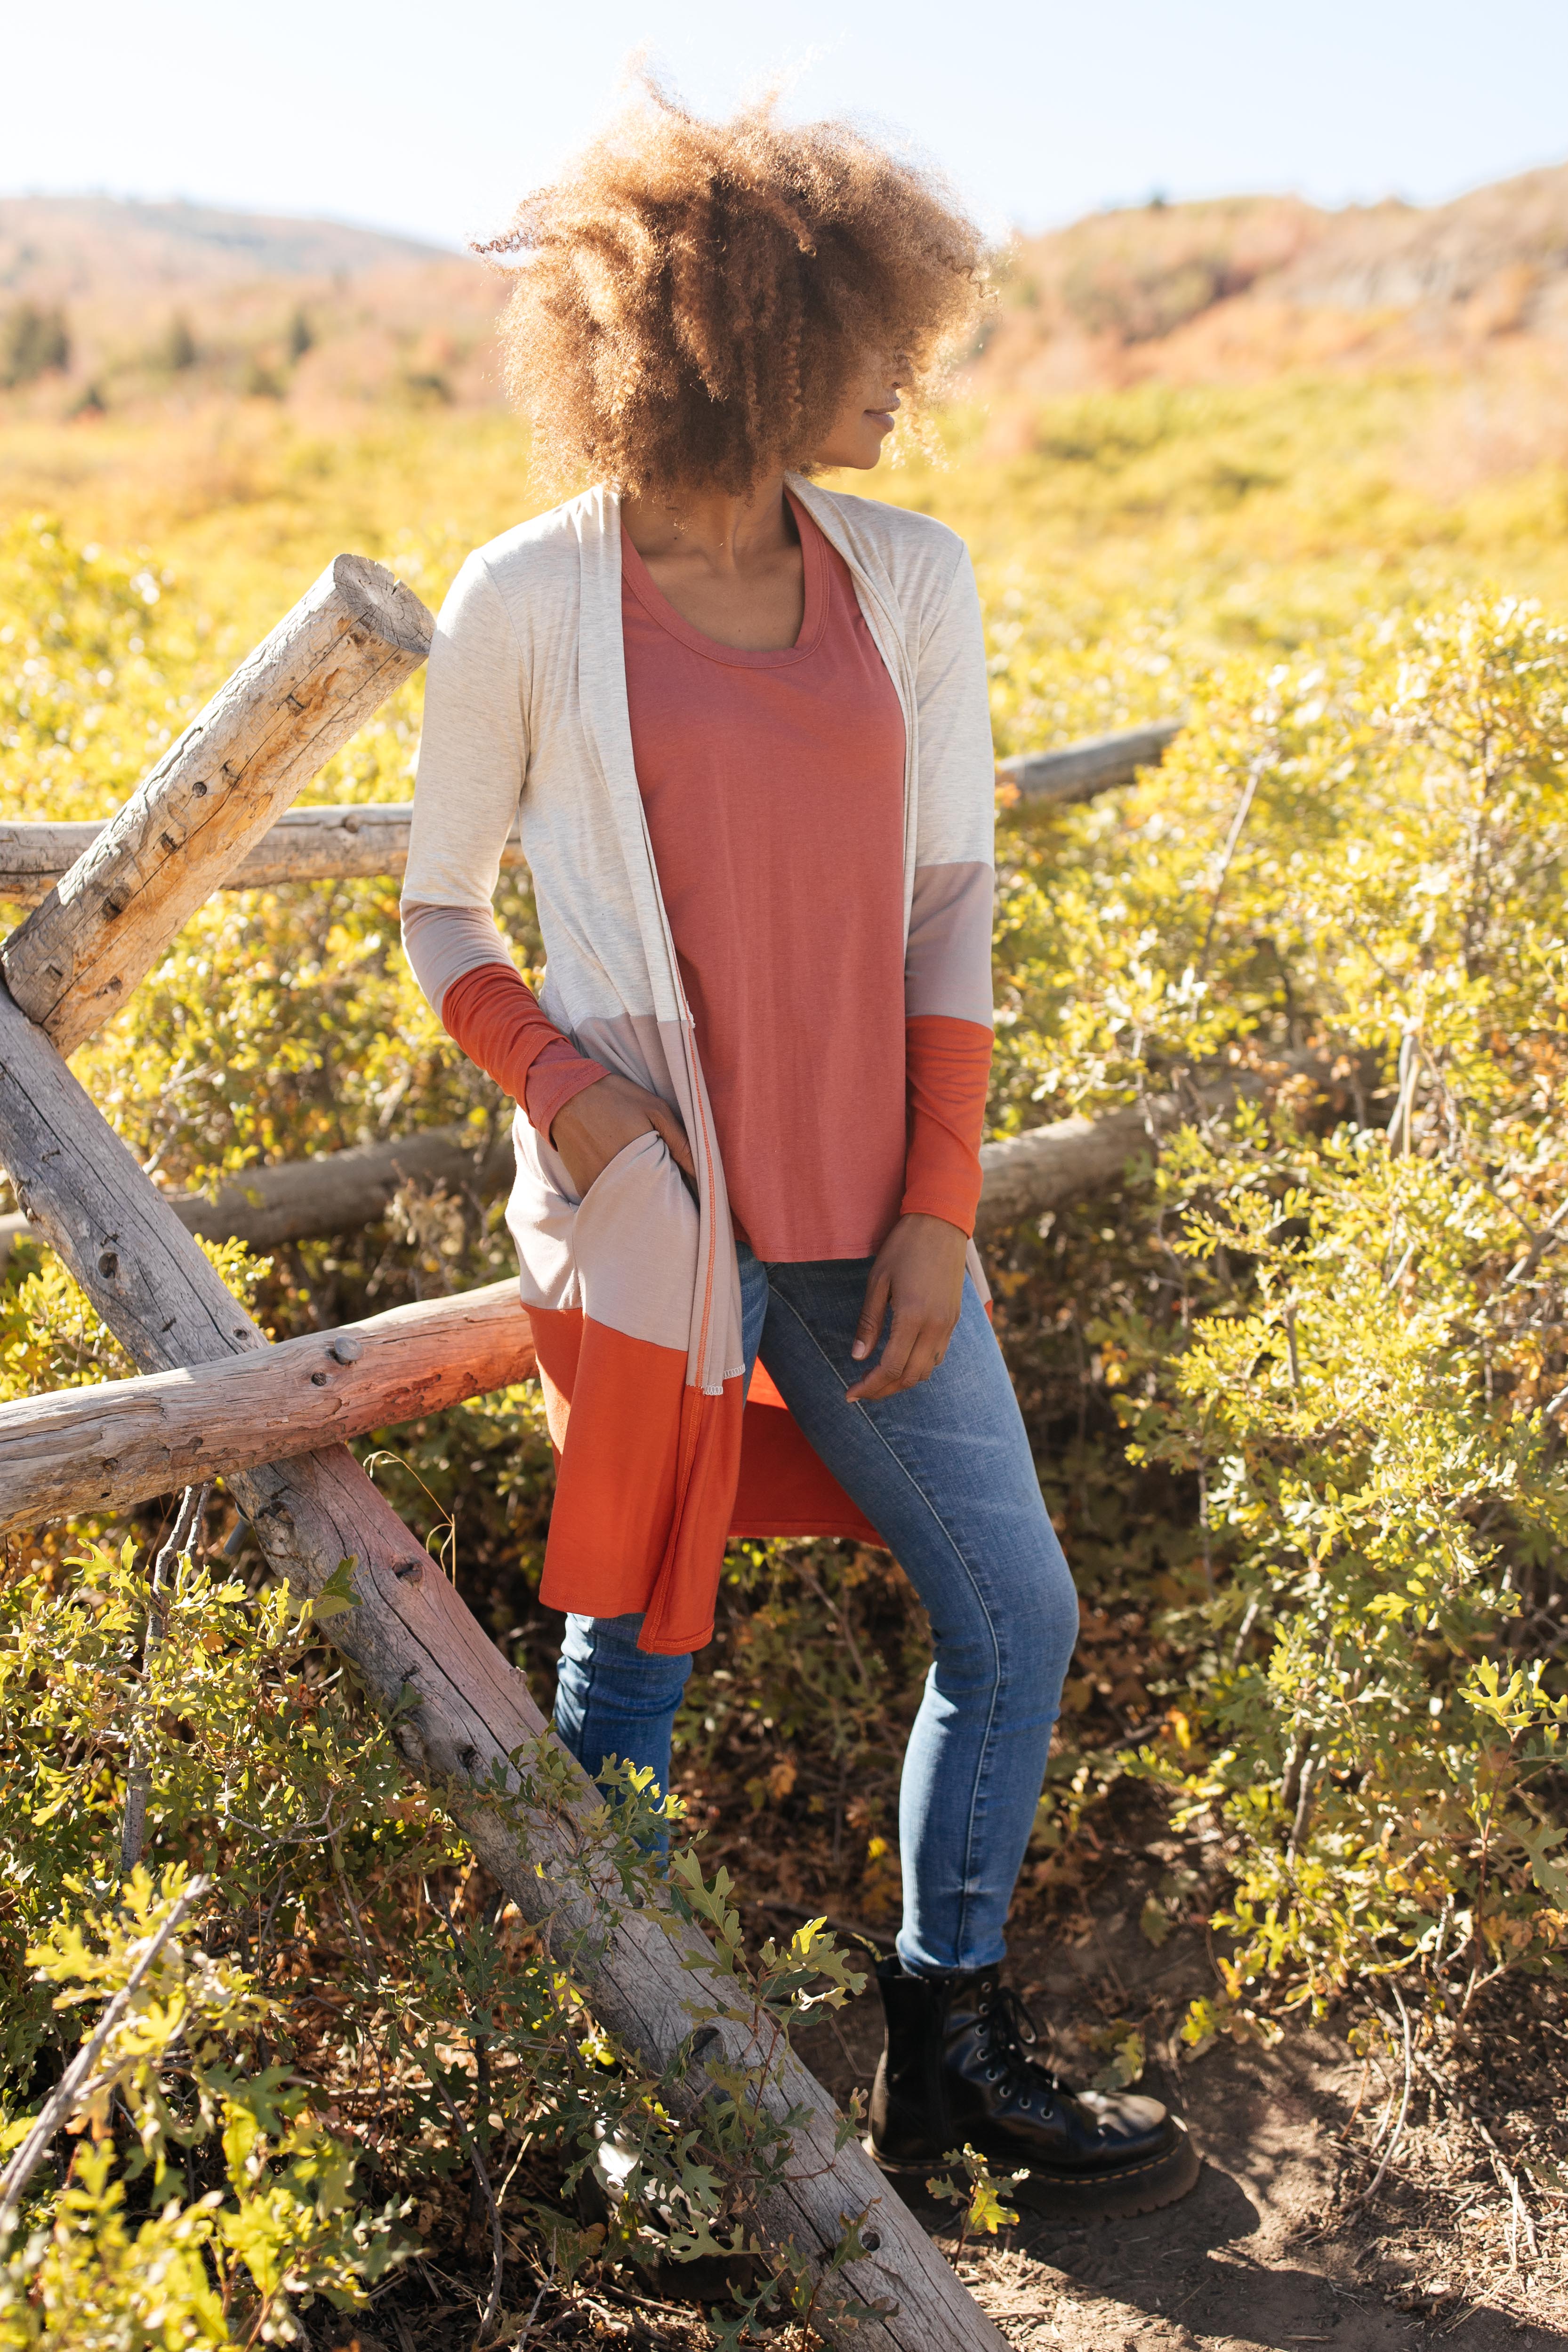
[[[200,1851],[212,1884],[200,1947],[167,1945],[80,2093],[87,2136],[0,2272],[0,2345],[294,2340],[296,2305],[360,2303],[444,2204],[458,2237],[475,2209],[494,2206],[494,2230],[505,2211],[557,2284],[590,2263],[743,2256],[752,2187],[788,2147],[766,2070],[719,2067],[712,2114],[677,2126],[670,2084],[599,2032],[517,1912],[475,1900],[461,1839],[317,1639],[353,1606],[348,1576],[296,1606],[190,1557],[148,1590],[129,1543],[66,1566],[59,1590],[0,1588],[5,2065],[24,2091],[0,2145],[31,2126],[28,2082],[59,2072],[61,2011],[127,1985],[181,1891],[183,1863],[120,1882],[129,1752],[150,1766],[153,1844]],[[569,1792],[550,1755],[515,1764],[527,1804]],[[646,1778],[625,1769],[585,1825],[595,1905],[604,1886],[654,1893],[649,1832],[679,1806],[654,1806]],[[724,2013],[783,2051],[792,2016],[863,1983],[820,1922],[748,1966],[724,1872],[708,1884],[689,1849],[670,1867],[726,1980],[722,2011],[693,1997],[691,2034]],[[607,2145],[614,2201],[585,2223],[576,2190]],[[393,2190],[381,2206],[367,2178]],[[811,2281],[762,2279],[745,2300],[780,2293],[811,2300]],[[491,2326],[498,2296],[496,2267]]]

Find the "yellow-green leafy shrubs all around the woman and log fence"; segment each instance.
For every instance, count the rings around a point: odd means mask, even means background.
[[[1316,510],[1302,435],[1321,405],[1302,388],[1272,407],[1161,388],[1060,402],[1018,466],[976,459],[945,489],[912,468],[896,485],[973,524],[1004,750],[1190,710],[1135,790],[1004,809],[994,1131],[1171,1096],[1187,1127],[1119,1190],[1009,1235],[992,1277],[1084,1595],[1020,1903],[1072,1882],[1117,1778],[1140,1778],[1178,1823],[1218,1825],[1227,1997],[1187,2020],[1192,2046],[1272,2034],[1293,2006],[1321,2011],[1387,1971],[1460,2016],[1502,1969],[1559,1971],[1568,1924],[1554,1823],[1568,640],[1410,553],[1427,524],[1387,475],[1378,487],[1368,454],[1389,397],[1359,388],[1333,412],[1352,454]],[[397,437],[402,426],[346,459],[268,440],[249,527],[266,553],[249,569],[233,513],[226,553],[193,539],[186,574],[146,548],[85,548],[47,517],[16,527],[0,553],[5,809],[89,816],[125,795],[284,602],[277,548],[294,588],[320,564],[320,546],[289,536],[299,513],[388,553],[435,600],[498,520],[484,503],[491,428],[463,430],[484,494],[463,489],[456,440]],[[430,449],[451,466],[451,506],[425,510],[458,520],[402,546],[378,541],[374,517],[360,529],[353,501],[374,506],[362,485],[402,506]],[[1328,463],[1321,449],[1312,463]],[[1352,546],[1352,508],[1385,534],[1378,567]],[[1500,527],[1493,510],[1486,529]],[[1476,569],[1486,532],[1453,529],[1450,569]],[[1265,583],[1258,553],[1291,532],[1293,562]],[[416,729],[418,684],[315,790],[402,797]],[[531,969],[527,894],[503,898],[503,920]],[[501,1112],[418,1000],[378,882],[216,898],[78,1068],[174,1188]],[[494,1279],[505,1235],[494,1209],[407,1195],[364,1235],[223,1263],[287,1334]],[[61,1270],[21,1244],[0,1289],[0,1395],[122,1369]],[[534,1588],[552,1470],[531,1392],[362,1451],[433,1545],[456,1526],[465,1597],[548,1677]],[[150,1519],[136,1531],[146,1550]],[[71,2053],[73,2011],[52,1987],[87,1983],[38,1971],[59,1971],[66,1950],[78,1969],[87,1952],[125,1957],[132,1740],[153,1780],[153,1877],[136,1900],[158,1900],[181,1865],[209,1870],[202,1952],[230,1971],[235,2002],[259,2004],[219,2034],[226,2079],[209,2107],[186,2044],[150,2060],[146,2098],[155,2079],[172,2117],[160,2129],[190,2133],[179,2161],[167,2138],[165,2173],[150,2143],[139,2159],[132,2103],[96,2143],[78,2133],[68,2180],[38,2176],[33,2237],[12,2246],[31,2300],[7,2324],[73,2340],[45,2279],[75,2277],[80,2298],[92,2263],[106,2312],[143,2312],[148,2265],[167,2256],[200,2258],[219,2305],[233,2277],[244,2326],[284,2328],[277,2296],[315,2293],[306,2272],[268,2286],[261,2251],[261,2272],[221,2265],[223,2216],[273,2197],[263,2176],[303,2211],[289,2133],[346,2152],[322,2157],[331,2209],[315,2211],[322,2241],[355,2253],[320,2291],[360,2293],[414,2241],[447,2260],[468,2249],[484,2272],[480,2166],[510,2180],[515,2265],[538,2281],[604,2279],[649,2256],[649,2230],[665,2258],[670,2216],[684,2251],[724,2239],[741,2173],[670,2140],[656,2086],[604,2044],[440,1806],[407,1788],[386,1731],[315,1623],[263,1588],[226,1508],[158,1597],[125,1529],[85,1526],[12,1545],[2,1599],[16,2124]],[[889,1917],[922,1639],[879,1555],[736,1550],[679,1726],[679,1780],[686,1828],[708,1828],[708,1853],[741,1886],[750,1875],[802,1915],[835,1903]],[[637,1823],[637,1792],[621,1795],[614,1835]],[[696,1882],[691,1898],[719,1926],[733,1910]],[[54,1931],[78,1940],[56,1947]],[[1164,1933],[1159,1917],[1150,1931]],[[764,1955],[769,1983],[823,1957],[802,1936]],[[832,1976],[811,1983],[835,1990]],[[237,2112],[268,2067],[289,2070],[301,2103],[259,2126],[261,2171],[235,2173],[223,2100]],[[604,2131],[646,2166],[630,2211],[592,2187]],[[179,2211],[158,2201],[169,2180]]]

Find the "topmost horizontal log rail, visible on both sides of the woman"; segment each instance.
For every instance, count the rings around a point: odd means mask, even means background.
[[[997,762],[997,774],[1025,800],[1093,800],[1157,767],[1180,734],[1180,720],[1124,727],[1088,736],[1063,750],[1018,753]],[[411,800],[331,802],[284,814],[221,877],[219,889],[275,889],[282,882],[350,882],[397,877],[409,863]],[[106,823],[0,823],[0,901],[38,906],[103,835]],[[522,842],[512,833],[501,851],[503,868],[522,866]]]

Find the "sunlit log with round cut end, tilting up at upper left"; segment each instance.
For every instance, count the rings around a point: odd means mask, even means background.
[[[0,946],[61,1054],[125,1004],[179,927],[430,652],[430,614],[339,555]]]

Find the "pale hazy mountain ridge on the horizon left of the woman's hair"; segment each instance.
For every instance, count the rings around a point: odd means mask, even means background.
[[[110,195],[0,198],[0,289],[33,301],[103,292],[212,287],[240,278],[362,278],[451,259],[416,238],[343,221],[289,221],[209,205],[139,205]]]

